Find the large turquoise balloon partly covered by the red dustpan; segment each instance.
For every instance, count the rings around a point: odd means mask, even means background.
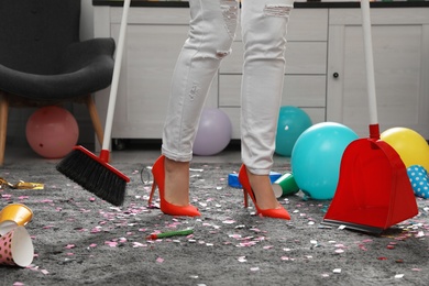
[[[340,176],[345,147],[358,134],[334,122],[322,122],[307,129],[292,152],[290,165],[295,182],[311,199],[332,199]]]

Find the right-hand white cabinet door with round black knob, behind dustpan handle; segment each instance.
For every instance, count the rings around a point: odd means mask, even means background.
[[[372,9],[381,132],[410,128],[429,139],[429,8]],[[369,135],[360,9],[329,12],[327,120]]]

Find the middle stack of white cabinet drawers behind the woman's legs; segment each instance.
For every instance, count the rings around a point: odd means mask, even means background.
[[[239,32],[240,32],[239,28]],[[305,110],[314,123],[326,120],[328,9],[295,9],[290,14],[286,74],[282,105]],[[240,139],[240,88],[243,43],[240,33],[232,54],[219,69],[219,105],[232,122],[232,138]]]

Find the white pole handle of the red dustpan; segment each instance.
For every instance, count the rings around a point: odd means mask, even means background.
[[[367,87],[369,107],[370,107],[370,124],[377,125],[378,124],[377,100],[375,95],[374,58],[373,58],[373,44],[372,44],[369,0],[361,0],[361,11],[362,11],[363,42],[364,42],[364,50],[365,50],[365,63],[366,63],[366,87]]]

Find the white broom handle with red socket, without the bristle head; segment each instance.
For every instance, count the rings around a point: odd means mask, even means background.
[[[130,4],[131,4],[131,0],[124,0],[121,26],[119,31],[118,48],[114,57],[113,77],[110,87],[109,105],[108,105],[108,111],[106,116],[105,136],[102,141],[102,147],[100,154],[100,158],[103,160],[105,162],[109,162],[109,152],[110,152],[109,150],[110,150],[110,140],[112,135],[114,106],[117,103],[119,76],[121,74],[122,55],[123,55],[123,47],[125,45],[128,12],[130,10]]]

